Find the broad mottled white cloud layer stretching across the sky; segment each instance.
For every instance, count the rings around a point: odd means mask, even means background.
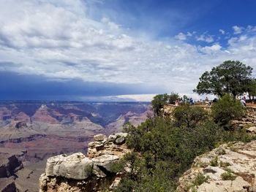
[[[0,70],[51,82],[108,82],[133,89],[144,85],[151,93],[191,93],[200,74],[225,60],[256,68],[255,26],[233,26],[230,33],[219,29],[225,45],[207,31],[181,31],[156,40],[136,36],[107,17],[91,18],[91,9],[79,0],[1,1]],[[195,42],[187,41],[192,38]]]

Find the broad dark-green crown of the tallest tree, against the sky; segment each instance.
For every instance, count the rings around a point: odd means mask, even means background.
[[[251,66],[240,61],[225,61],[212,68],[211,72],[204,72],[194,91],[199,94],[224,96],[225,93],[232,93],[238,96],[246,92],[251,74]]]

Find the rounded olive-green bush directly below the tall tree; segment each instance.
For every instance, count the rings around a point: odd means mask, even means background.
[[[240,101],[230,94],[225,94],[211,107],[211,115],[214,121],[221,126],[227,125],[230,120],[241,118],[244,112],[244,107],[241,106]]]

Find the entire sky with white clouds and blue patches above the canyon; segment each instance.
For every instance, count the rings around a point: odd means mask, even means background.
[[[223,61],[256,69],[255,9],[254,0],[0,0],[0,99],[198,99],[200,75]]]

